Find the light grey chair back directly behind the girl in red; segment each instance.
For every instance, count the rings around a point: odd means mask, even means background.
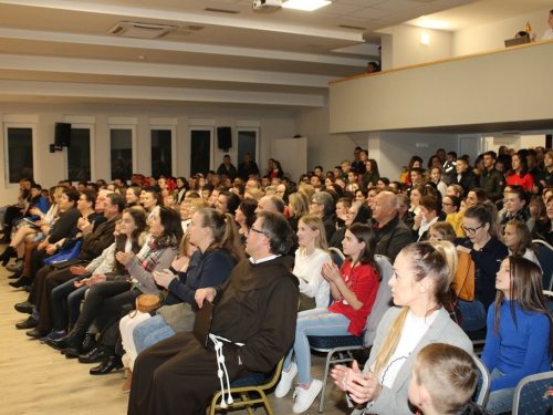
[[[378,291],[376,292],[375,303],[373,304],[373,310],[367,318],[367,323],[365,324],[365,334],[363,336],[363,345],[372,345],[375,341],[376,329],[380,323],[383,315],[393,305],[392,303],[392,289],[388,286],[388,281],[394,274],[394,268],[389,262],[389,259],[382,255],[376,255],[375,260],[380,267],[382,281],[378,286]]]

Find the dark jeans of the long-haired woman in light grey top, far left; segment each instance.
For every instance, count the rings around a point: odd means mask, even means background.
[[[81,315],[81,300],[84,300],[84,293],[90,287],[75,288],[73,282],[81,281],[87,277],[90,274],[79,276],[52,290],[52,304],[55,315],[54,330],[65,330],[67,326],[73,326],[79,320],[79,315]]]

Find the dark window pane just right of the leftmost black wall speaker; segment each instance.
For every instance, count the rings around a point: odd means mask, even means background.
[[[67,147],[67,172],[72,181],[91,181],[91,131],[71,128],[71,147]]]

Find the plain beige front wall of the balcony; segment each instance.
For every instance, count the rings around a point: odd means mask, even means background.
[[[331,83],[331,133],[551,120],[553,42]]]

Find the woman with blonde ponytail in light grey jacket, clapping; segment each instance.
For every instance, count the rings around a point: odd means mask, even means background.
[[[449,241],[418,242],[401,250],[389,281],[395,308],[378,324],[371,357],[363,373],[337,365],[336,385],[357,404],[353,415],[411,415],[408,388],[418,352],[440,342],[472,353],[472,343],[449,318],[445,305],[457,270],[457,252]]]

